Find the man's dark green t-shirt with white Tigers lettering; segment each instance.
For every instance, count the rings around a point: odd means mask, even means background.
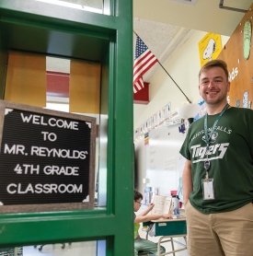
[[[207,158],[204,117],[190,125],[180,154],[191,161],[193,191],[190,204],[204,214],[232,211],[253,200],[253,111],[229,108],[211,133],[219,114],[208,115],[211,143],[209,178],[214,199],[203,200],[203,168]]]

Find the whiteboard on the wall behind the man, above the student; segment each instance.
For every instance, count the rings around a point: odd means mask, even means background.
[[[146,186],[158,188],[159,194],[178,191],[179,179],[185,159],[179,154],[185,134],[178,125],[160,126],[149,133],[146,146]]]

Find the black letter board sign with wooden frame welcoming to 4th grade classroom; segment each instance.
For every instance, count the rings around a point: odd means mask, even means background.
[[[96,119],[0,100],[0,212],[91,208]]]

